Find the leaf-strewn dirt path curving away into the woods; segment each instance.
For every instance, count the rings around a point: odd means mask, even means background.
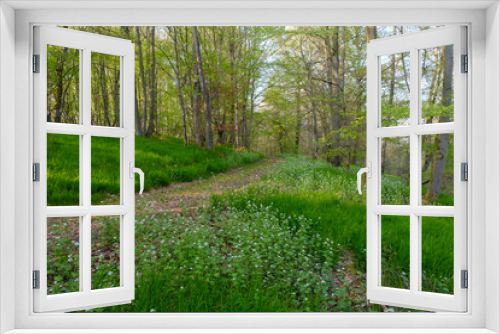
[[[142,195],[136,194],[136,213],[180,212],[184,208],[189,211],[202,207],[208,204],[212,194],[220,194],[228,189],[243,189],[281,161],[277,158],[266,158],[208,179],[175,183],[152,189]]]

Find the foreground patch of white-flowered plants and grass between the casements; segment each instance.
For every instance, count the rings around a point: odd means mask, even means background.
[[[295,231],[288,220],[303,222]],[[137,221],[136,298],[94,312],[335,311],[338,260],[312,221],[248,204]]]

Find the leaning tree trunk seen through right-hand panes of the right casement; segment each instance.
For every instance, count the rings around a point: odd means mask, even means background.
[[[453,98],[453,46],[444,47],[444,69],[443,69],[443,107],[449,107]],[[449,116],[443,116],[442,122],[449,122]],[[433,159],[431,179],[425,199],[435,201],[441,192],[441,182],[443,180],[444,163],[448,151],[448,134],[436,136],[436,154]]]

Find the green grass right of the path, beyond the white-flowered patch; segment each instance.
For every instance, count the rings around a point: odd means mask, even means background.
[[[300,214],[317,222],[314,230],[335,244],[350,249],[360,270],[366,270],[366,197],[356,190],[358,168],[345,171],[326,162],[289,156],[286,162],[244,192],[214,196],[243,209],[246,203],[270,206],[286,215]],[[384,177],[382,192],[398,203],[409,193],[404,180]],[[442,194],[446,204],[451,196]],[[408,288],[409,218],[382,217],[383,284]],[[297,225],[297,221],[291,221]],[[423,220],[423,290],[453,293],[453,219],[426,217]],[[438,254],[436,256],[436,254]]]

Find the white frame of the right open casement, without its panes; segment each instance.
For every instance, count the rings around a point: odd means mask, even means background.
[[[441,27],[412,34],[370,41],[367,46],[367,152],[371,177],[367,179],[367,298],[376,304],[403,306],[422,310],[467,310],[467,289],[461,287],[460,275],[467,270],[467,184],[461,181],[461,163],[467,163],[467,76],[461,73],[461,55],[467,54],[466,27]],[[452,122],[422,124],[421,77],[424,49],[453,45]],[[410,55],[410,118],[408,125],[382,126],[381,60],[380,57],[409,52]],[[454,136],[454,206],[422,205],[422,135],[451,133]],[[409,140],[410,195],[409,205],[383,205],[381,202],[382,138],[406,137]],[[408,217],[410,242],[410,284],[408,289],[381,285],[382,216]],[[453,218],[453,294],[422,291],[422,217]],[[439,256],[438,254],[435,254]]]

